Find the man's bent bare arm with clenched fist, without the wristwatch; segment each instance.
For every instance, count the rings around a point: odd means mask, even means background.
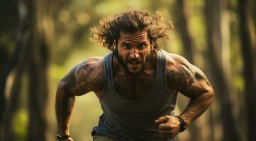
[[[213,89],[204,73],[182,56],[169,54],[167,59],[167,85],[190,98],[187,108],[179,115],[187,125],[201,116],[213,102]],[[162,116],[157,119],[162,135],[174,137],[179,133],[179,118]]]

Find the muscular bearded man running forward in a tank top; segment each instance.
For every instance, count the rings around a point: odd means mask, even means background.
[[[69,121],[77,95],[95,92],[104,113],[91,135],[102,141],[167,141],[185,130],[213,102],[206,76],[182,56],[161,50],[169,26],[160,15],[127,10],[102,18],[91,32],[111,51],[75,66],[57,87],[57,139],[72,140]],[[174,116],[177,94],[190,98]]]

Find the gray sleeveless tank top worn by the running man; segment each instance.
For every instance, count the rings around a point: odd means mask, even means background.
[[[100,99],[103,114],[92,134],[106,135],[116,141],[167,141],[158,133],[155,120],[174,115],[177,93],[169,92],[165,80],[167,61],[165,51],[157,51],[155,82],[148,95],[130,100],[116,91],[113,83],[113,53],[104,57],[105,87]],[[172,139],[174,140],[174,139]]]

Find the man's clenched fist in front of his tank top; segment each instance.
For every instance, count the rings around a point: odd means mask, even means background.
[[[155,123],[158,124],[159,133],[165,137],[175,137],[179,133],[180,122],[175,116],[161,116]]]

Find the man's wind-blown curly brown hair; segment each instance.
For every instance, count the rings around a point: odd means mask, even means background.
[[[147,30],[150,43],[154,43],[153,49],[159,50],[162,46],[157,43],[157,39],[168,38],[166,31],[172,27],[171,22],[169,25],[164,23],[160,12],[152,16],[148,11],[127,9],[113,18],[101,18],[99,27],[91,28],[91,39],[101,44],[102,47],[115,51],[120,32],[133,33]]]

